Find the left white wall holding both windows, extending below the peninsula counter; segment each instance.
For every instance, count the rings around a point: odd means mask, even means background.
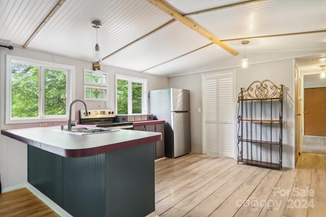
[[[5,124],[5,80],[6,80],[6,55],[21,56],[38,59],[51,63],[65,64],[75,67],[75,99],[84,99],[84,69],[92,69],[91,62],[45,53],[36,50],[15,47],[14,50],[0,48],[0,126],[1,130],[23,127],[38,127],[38,123],[6,125]],[[148,79],[148,90],[168,88],[168,78],[153,76],[140,72],[119,69],[109,66],[101,66],[103,72],[108,73],[108,101],[86,101],[88,109],[115,108],[115,75],[122,74],[137,78]],[[75,104],[75,116],[78,118],[78,110],[83,109],[82,103]],[[66,123],[66,122],[64,122]],[[60,125],[61,123],[48,122],[48,126]],[[0,135],[0,171],[4,172],[1,177],[2,187],[10,189],[27,181],[27,145]]]

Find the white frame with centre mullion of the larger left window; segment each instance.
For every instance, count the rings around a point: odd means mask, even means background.
[[[11,88],[11,64],[22,63],[38,66],[39,75],[39,115],[38,117],[12,117],[12,88]],[[45,91],[44,91],[44,70],[58,70],[66,72],[66,114],[65,115],[45,115]],[[66,121],[69,118],[69,105],[75,95],[75,67],[63,64],[51,63],[42,60],[30,59],[19,56],[7,55],[6,59],[6,124],[14,123],[35,123],[46,121]],[[73,111],[72,111],[73,113]]]

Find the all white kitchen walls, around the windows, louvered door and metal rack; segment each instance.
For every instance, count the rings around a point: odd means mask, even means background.
[[[316,51],[311,51],[314,53]],[[283,128],[283,166],[294,167],[294,58],[289,56],[307,55],[309,52],[292,52],[290,54],[248,54],[248,58],[255,58],[257,64],[251,64],[249,69],[242,70],[238,67],[240,57],[230,57],[225,60],[216,61],[211,64],[189,70],[186,73],[193,73],[172,78],[164,78],[152,76],[144,73],[134,72],[125,69],[118,69],[108,66],[102,66],[101,70],[107,72],[108,75],[108,101],[94,102],[87,101],[89,109],[97,108],[115,108],[115,74],[122,74],[148,79],[148,90],[164,89],[168,87],[184,88],[191,91],[191,140],[192,151],[202,152],[202,113],[198,113],[197,109],[201,108],[201,73],[236,71],[236,96],[240,87],[247,87],[255,80],[269,79],[276,84],[285,85],[284,99],[284,128]],[[5,125],[5,68],[6,54],[14,56],[22,56],[43,61],[50,61],[58,64],[66,64],[75,66],[75,99],[83,99],[83,79],[84,68],[92,69],[92,63],[88,61],[78,60],[56,54],[50,54],[35,50],[16,48],[13,51],[0,48],[0,126],[1,129],[21,128],[38,126],[37,124],[29,125]],[[310,53],[309,53],[310,54]],[[285,60],[271,61],[274,59],[288,58]],[[277,56],[277,57],[276,57]],[[250,59],[253,63],[253,58]],[[272,58],[273,59],[273,58]],[[264,62],[264,63],[263,63]],[[234,99],[236,101],[236,99]],[[75,115],[77,111],[83,109],[82,104],[75,104]],[[51,125],[52,123],[49,123]],[[26,145],[11,140],[5,136],[0,136],[0,171],[5,173],[1,177],[3,188],[12,187],[19,183],[26,182]]]

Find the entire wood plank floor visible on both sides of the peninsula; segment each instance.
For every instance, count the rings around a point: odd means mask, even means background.
[[[326,156],[303,153],[295,169],[270,170],[187,154],[155,162],[160,216],[325,216]],[[0,216],[58,216],[27,189],[0,194]]]

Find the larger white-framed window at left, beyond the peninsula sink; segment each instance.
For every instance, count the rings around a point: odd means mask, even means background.
[[[67,120],[74,67],[7,56],[6,123]]]

